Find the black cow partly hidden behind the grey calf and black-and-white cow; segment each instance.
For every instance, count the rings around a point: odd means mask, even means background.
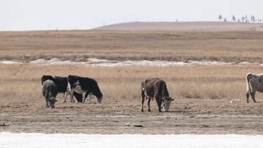
[[[52,75],[43,75],[41,78],[42,85],[43,82],[45,82],[46,80],[52,80],[57,85],[58,93],[64,93],[63,102],[66,102],[66,98],[70,93],[68,89],[68,78],[60,77],[60,76],[52,76]],[[74,92],[73,95],[77,99],[77,102],[82,102],[82,98],[83,98],[82,94]],[[74,100],[71,99],[71,102],[74,102]]]

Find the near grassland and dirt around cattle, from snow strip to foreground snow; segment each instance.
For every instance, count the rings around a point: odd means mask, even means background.
[[[246,103],[245,75],[261,66],[86,67],[0,65],[0,131],[143,134],[263,134],[263,99]],[[102,104],[62,103],[45,109],[42,74],[93,77],[105,93]],[[168,113],[140,112],[140,81],[160,77],[175,98]],[[232,101],[232,103],[230,103]],[[145,105],[146,108],[146,105]],[[128,125],[139,124],[144,128]]]

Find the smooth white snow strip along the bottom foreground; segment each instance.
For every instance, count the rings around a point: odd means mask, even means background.
[[[263,135],[101,135],[0,132],[0,148],[263,148]]]

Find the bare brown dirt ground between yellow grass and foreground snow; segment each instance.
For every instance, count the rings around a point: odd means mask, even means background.
[[[62,95],[59,95],[62,98]],[[140,101],[106,98],[102,104],[62,103],[45,109],[44,99],[0,106],[0,131],[88,134],[263,134],[263,100],[177,99],[170,112],[140,112]],[[146,106],[145,106],[146,107]],[[146,109],[146,108],[145,108]],[[130,125],[130,126],[129,126]],[[133,127],[143,125],[144,127]]]

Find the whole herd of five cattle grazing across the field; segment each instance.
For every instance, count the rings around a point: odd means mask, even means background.
[[[68,77],[43,75],[41,82],[42,93],[46,99],[46,108],[55,108],[56,95],[58,93],[64,93],[63,102],[66,102],[68,95],[70,95],[71,102],[84,103],[87,99],[91,101],[91,95],[96,97],[97,103],[101,103],[103,99],[103,93],[100,91],[97,82],[92,78],[77,75],[69,75]],[[253,101],[256,102],[256,92],[263,92],[263,74],[249,73],[246,75],[246,82],[246,102],[248,103],[250,95]],[[82,93],[85,93],[84,98]],[[151,111],[150,101],[155,99],[158,105],[158,112],[161,111],[162,104],[163,110],[169,111],[171,101],[174,100],[169,96],[165,81],[159,78],[147,78],[141,81],[141,97],[141,111],[144,111],[143,104],[145,99],[148,102],[148,111]]]

